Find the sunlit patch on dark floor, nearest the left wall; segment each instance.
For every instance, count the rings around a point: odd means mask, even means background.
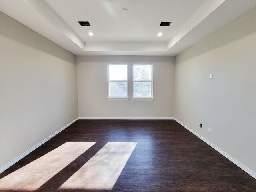
[[[66,142],[44,156],[0,179],[1,190],[34,191],[96,142]]]

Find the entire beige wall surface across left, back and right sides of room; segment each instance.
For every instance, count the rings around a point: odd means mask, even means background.
[[[175,59],[74,56],[1,13],[0,166],[78,116],[174,116],[256,172],[255,20],[254,8]],[[108,63],[128,63],[129,100],[106,99]],[[132,100],[133,63],[154,64],[154,100]]]

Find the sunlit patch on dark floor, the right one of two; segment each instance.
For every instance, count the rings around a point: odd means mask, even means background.
[[[111,190],[130,158],[137,143],[108,142],[60,189]]]

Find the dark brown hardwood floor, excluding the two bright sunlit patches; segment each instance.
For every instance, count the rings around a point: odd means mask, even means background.
[[[78,120],[4,171],[1,178],[66,142],[96,144],[36,191],[93,191],[59,187],[107,142],[137,142],[111,191],[256,191],[252,176],[174,120]]]

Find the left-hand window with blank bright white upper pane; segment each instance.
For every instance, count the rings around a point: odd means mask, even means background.
[[[108,99],[128,100],[127,64],[108,64]]]

